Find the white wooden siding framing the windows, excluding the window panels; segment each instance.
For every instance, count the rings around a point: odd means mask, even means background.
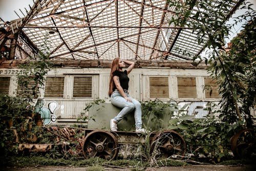
[[[9,69],[5,69],[9,70]],[[13,70],[13,69],[12,69]],[[17,69],[18,70],[18,69]],[[58,122],[66,122],[72,120],[76,121],[87,102],[93,101],[96,98],[106,99],[110,103],[109,91],[109,68],[56,68],[48,73],[47,76],[63,76],[65,77],[64,95],[63,98],[45,98],[47,106],[48,102],[56,101],[58,108],[55,110],[54,115],[58,118]],[[17,86],[15,83],[15,75],[0,75],[11,76],[9,95],[13,95]],[[75,76],[92,76],[92,98],[74,98],[73,97],[73,80]],[[202,89],[204,84],[204,77],[208,77],[206,70],[193,70],[193,69],[169,69],[169,68],[136,68],[129,74],[129,93],[130,95],[139,100],[154,100],[150,98],[150,77],[168,77],[169,98],[161,98],[162,101],[169,101],[174,99],[176,101],[217,101],[219,99],[205,99]],[[197,83],[197,99],[179,99],[177,88],[177,77],[195,77]],[[44,89],[40,90],[40,97],[44,97]]]

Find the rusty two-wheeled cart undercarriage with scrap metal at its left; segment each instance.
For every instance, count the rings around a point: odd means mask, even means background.
[[[100,157],[113,160],[117,158],[120,145],[145,145],[146,138],[149,138],[150,151],[151,153],[157,152],[158,157],[168,158],[172,156],[176,159],[182,159],[186,153],[185,140],[173,130],[149,134],[89,130],[67,126],[52,126],[47,130],[56,135],[56,144],[19,144],[19,151],[48,152],[53,149],[54,145],[66,148],[70,142],[73,142],[76,143],[75,151],[71,148],[68,149],[68,152],[72,155],[84,156],[86,159]]]

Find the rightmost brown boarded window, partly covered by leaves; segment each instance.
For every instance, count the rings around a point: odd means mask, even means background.
[[[206,89],[204,90],[205,98],[221,98],[219,96],[218,85],[216,80],[213,80],[212,78],[204,78],[204,85],[206,86]],[[210,90],[208,90],[207,87],[210,87],[212,89],[211,95]]]

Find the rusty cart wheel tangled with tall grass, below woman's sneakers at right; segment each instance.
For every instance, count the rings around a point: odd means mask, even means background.
[[[186,153],[186,143],[179,133],[167,130],[153,137],[150,151],[157,158],[182,159]]]

